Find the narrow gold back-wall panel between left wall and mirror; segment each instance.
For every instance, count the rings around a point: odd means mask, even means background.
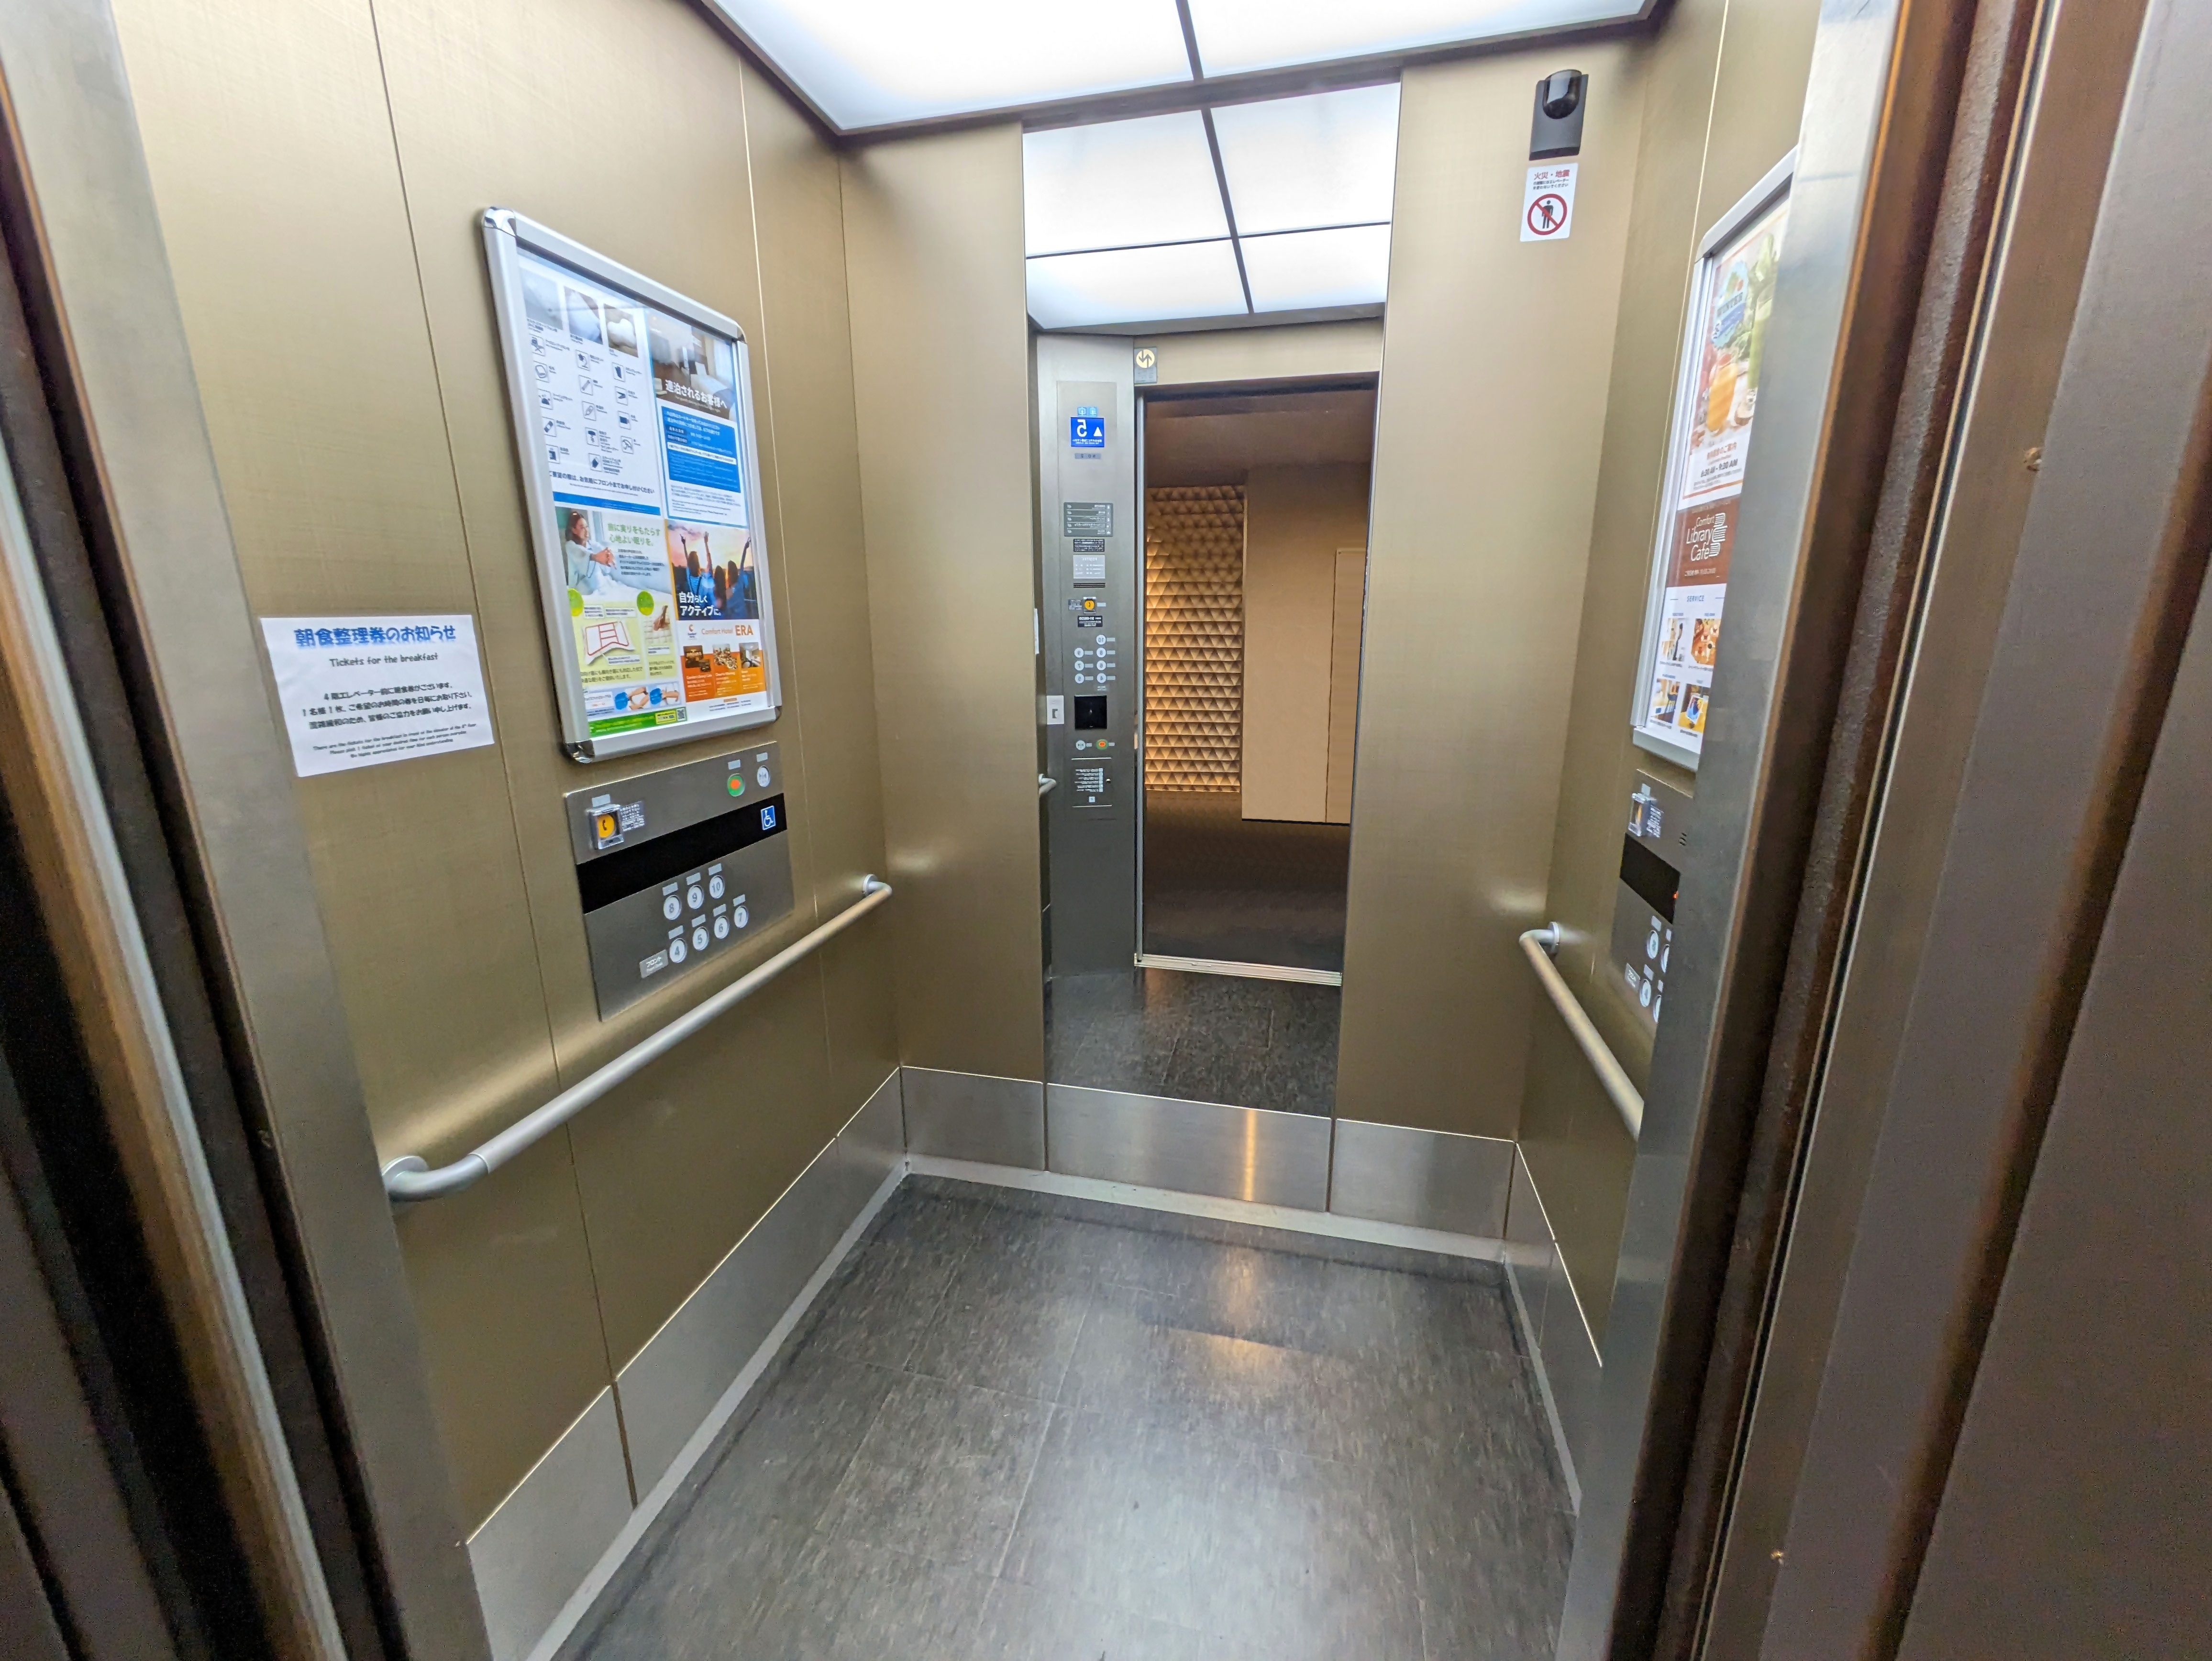
[[[900,1059],[1044,1075],[1022,135],[845,155]]]

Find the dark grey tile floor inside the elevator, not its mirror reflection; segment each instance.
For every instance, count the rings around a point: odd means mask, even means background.
[[[900,1188],[584,1652],[1548,1657],[1573,1517],[1495,1272],[1113,1214]]]

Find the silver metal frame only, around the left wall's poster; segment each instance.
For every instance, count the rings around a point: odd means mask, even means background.
[[[776,652],[776,606],[774,579],[768,557],[768,526],[761,511],[761,464],[759,438],[752,416],[752,352],[745,330],[710,305],[701,305],[628,265],[599,254],[584,243],[562,237],[557,230],[538,223],[511,208],[484,208],[484,259],[491,272],[491,301],[500,327],[500,358],[507,372],[507,407],[515,429],[515,460],[522,471],[524,511],[529,518],[531,560],[535,562],[538,595],[544,610],[546,646],[553,652],[553,694],[560,703],[562,743],[575,761],[606,761],[611,756],[659,750],[670,743],[688,743],[723,732],[743,732],[779,719],[783,712],[783,666]],[[739,451],[739,478],[745,491],[745,520],[752,535],[754,573],[761,597],[761,650],[768,670],[768,706],[706,721],[679,721],[664,728],[639,728],[630,732],[591,734],[584,712],[582,664],[577,661],[575,630],[568,619],[568,584],[562,571],[562,551],[553,546],[557,502],[553,500],[553,469],[546,449],[538,438],[531,400],[531,345],[529,323],[522,301],[522,254],[538,254],[557,265],[573,268],[580,276],[622,290],[655,310],[721,334],[734,352],[734,425]]]

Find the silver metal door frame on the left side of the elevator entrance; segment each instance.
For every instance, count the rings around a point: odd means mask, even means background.
[[[376,1632],[347,1626],[356,1652],[383,1639],[422,1661],[482,1661],[482,1612],[290,750],[106,0],[0,7],[0,77],[11,115],[0,161],[9,257],[69,462],[66,480],[46,482],[88,544],[84,586],[55,593],[55,624],[84,719],[144,750],[139,761],[119,754],[122,741],[102,741],[106,812],[133,900],[155,924],[139,933],[210,1150],[212,1194],[195,1199],[219,1205],[252,1300],[261,1354],[232,1367],[261,1360],[279,1373],[274,1411],[292,1471],[272,1464],[285,1449],[263,1449],[268,1486],[239,1524],[268,1539],[265,1584],[290,1581],[270,1617],[290,1621],[294,1652],[316,1654],[316,1639],[330,1639],[316,1581],[338,1573],[374,1599]],[[82,666],[100,655],[106,677],[95,683]],[[144,783],[126,798],[131,767]],[[173,891],[155,894],[148,876]],[[210,1130],[210,1115],[230,1115],[250,1152],[228,1159],[228,1130]],[[281,1316],[296,1334],[279,1329]],[[241,1424],[237,1446],[252,1453],[268,1429]],[[319,1431],[327,1460],[310,1458]],[[301,1482],[312,1539],[299,1535],[299,1497],[283,1495]]]

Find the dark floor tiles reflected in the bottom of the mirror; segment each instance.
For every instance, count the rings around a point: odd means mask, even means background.
[[[1046,1077],[1232,1108],[1334,1112],[1340,1002],[1336,986],[1179,969],[1053,975]]]

